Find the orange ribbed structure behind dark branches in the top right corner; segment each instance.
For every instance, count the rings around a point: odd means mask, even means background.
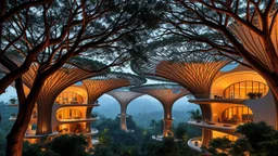
[[[277,9],[275,9],[277,10]],[[275,11],[274,11],[275,12]],[[270,14],[268,16],[269,21],[269,27],[273,25],[271,31],[270,31],[270,38],[273,41],[273,46],[276,50],[276,54],[278,55],[278,16],[274,20],[274,15]],[[254,25],[258,29],[263,29],[263,24],[261,18],[256,17],[254,21]],[[268,29],[269,29],[268,27]],[[256,32],[248,28],[247,26],[239,24],[239,23],[232,23],[229,26],[230,30],[239,38],[239,40],[242,42],[244,48],[257,60],[260,60],[264,66],[266,66],[269,70],[274,72],[275,67],[270,62],[269,54],[267,54],[265,41],[262,37],[260,37]]]

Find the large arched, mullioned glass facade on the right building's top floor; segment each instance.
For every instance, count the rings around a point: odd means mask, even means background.
[[[256,93],[254,98],[264,96],[268,86],[258,81],[241,81],[232,83],[224,90],[225,99],[250,99],[249,93]],[[258,95],[257,95],[258,94]]]

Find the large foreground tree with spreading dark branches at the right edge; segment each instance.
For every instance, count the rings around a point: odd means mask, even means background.
[[[164,34],[202,42],[206,47],[195,51],[216,50],[253,68],[278,99],[277,1],[168,0],[167,4]]]

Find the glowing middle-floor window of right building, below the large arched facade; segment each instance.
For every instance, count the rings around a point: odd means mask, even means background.
[[[253,112],[247,106],[232,106],[223,112],[223,122],[242,123],[253,121]]]

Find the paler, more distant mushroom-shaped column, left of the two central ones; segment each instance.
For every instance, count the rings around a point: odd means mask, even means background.
[[[116,89],[116,90],[108,92],[108,94],[117,100],[117,102],[121,106],[119,128],[123,131],[128,132],[129,130],[127,129],[127,125],[126,125],[126,117],[128,117],[128,115],[126,114],[127,106],[132,100],[135,100],[143,94],[139,93],[139,92],[132,92],[128,88]]]

